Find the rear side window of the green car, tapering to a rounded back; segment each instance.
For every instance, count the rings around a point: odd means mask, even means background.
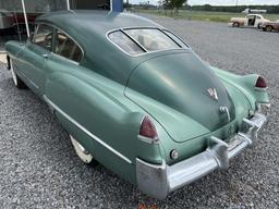
[[[83,51],[78,45],[63,32],[57,32],[54,52],[75,62],[81,62]]]

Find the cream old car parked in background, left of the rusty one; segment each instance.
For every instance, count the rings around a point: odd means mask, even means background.
[[[248,14],[245,17],[231,17],[229,23],[232,27],[256,27],[260,28],[262,24],[269,22],[260,14]]]

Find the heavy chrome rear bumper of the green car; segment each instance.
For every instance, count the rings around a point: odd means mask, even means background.
[[[138,188],[149,196],[163,199],[169,193],[214,170],[228,169],[229,160],[257,139],[257,133],[265,122],[266,116],[262,113],[255,113],[250,120],[243,119],[243,123],[248,126],[245,133],[239,132],[228,144],[213,136],[205,151],[173,165],[168,165],[165,162],[159,165],[151,164],[137,158]]]

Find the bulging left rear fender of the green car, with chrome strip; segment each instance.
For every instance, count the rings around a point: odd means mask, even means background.
[[[162,162],[160,144],[138,140],[141,122],[147,113],[124,97],[122,85],[99,75],[69,72],[48,77],[44,99],[62,126],[96,160],[132,183],[136,158]]]

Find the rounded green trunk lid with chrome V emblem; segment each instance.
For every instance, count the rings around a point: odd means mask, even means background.
[[[156,119],[175,142],[216,131],[231,121],[234,107],[222,83],[193,52],[143,62],[132,73],[125,96]]]

